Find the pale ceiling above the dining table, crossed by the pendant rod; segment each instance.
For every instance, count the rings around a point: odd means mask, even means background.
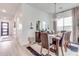
[[[54,3],[29,3],[30,6],[45,11],[47,13],[55,12]],[[56,13],[79,6],[79,3],[56,3]]]

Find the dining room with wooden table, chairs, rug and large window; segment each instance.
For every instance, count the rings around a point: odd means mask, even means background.
[[[16,35],[26,54],[77,56],[78,6],[78,3],[21,4],[15,15]]]

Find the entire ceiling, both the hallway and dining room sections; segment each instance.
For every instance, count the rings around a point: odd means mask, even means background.
[[[55,12],[54,3],[28,3],[28,5],[47,13],[53,14]],[[14,17],[19,6],[20,3],[0,3],[0,18]],[[71,9],[77,6],[79,6],[78,3],[56,3],[56,12],[62,12],[64,10]]]

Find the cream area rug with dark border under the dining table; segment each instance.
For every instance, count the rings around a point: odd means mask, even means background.
[[[65,56],[76,56],[77,53],[78,53],[78,47],[79,47],[79,45],[71,44],[69,46],[67,52],[64,53]],[[43,49],[43,51],[42,51],[43,55],[40,54],[41,46],[38,45],[38,44],[30,45],[26,49],[28,49],[35,56],[48,56],[48,55],[46,55],[47,54],[47,51],[48,51],[46,49]],[[60,48],[59,48],[59,52],[60,52],[59,55],[62,56],[62,53],[61,53],[61,49]],[[51,52],[51,51],[50,51],[50,55],[51,56],[56,56],[56,54],[54,52]]]

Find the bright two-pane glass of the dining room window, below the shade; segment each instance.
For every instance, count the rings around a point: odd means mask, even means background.
[[[57,19],[57,31],[72,31],[72,17]]]

